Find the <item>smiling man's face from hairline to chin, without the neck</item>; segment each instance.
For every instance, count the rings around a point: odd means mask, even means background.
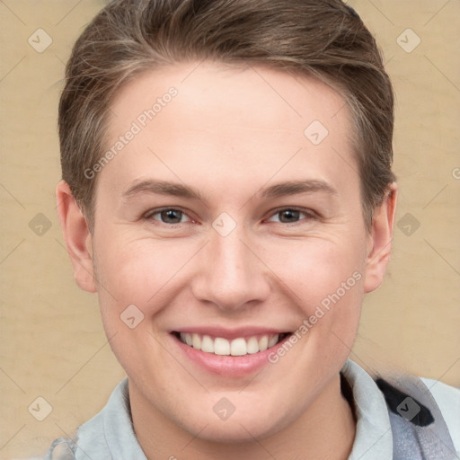
[[[376,233],[338,93],[196,65],[139,76],[111,105],[93,289],[133,400],[202,438],[264,437],[330,391],[378,284]]]

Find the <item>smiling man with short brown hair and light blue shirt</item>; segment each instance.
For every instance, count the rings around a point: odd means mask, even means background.
[[[339,0],[96,16],[66,69],[57,202],[128,378],[49,458],[456,458],[458,391],[348,359],[390,255],[393,102]]]

